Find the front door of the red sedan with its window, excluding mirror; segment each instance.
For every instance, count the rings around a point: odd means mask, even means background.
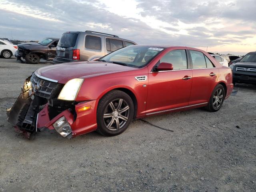
[[[173,70],[148,74],[147,114],[188,106],[192,86],[192,70],[188,61],[185,49],[171,50],[158,61],[156,65],[161,62],[173,64]]]

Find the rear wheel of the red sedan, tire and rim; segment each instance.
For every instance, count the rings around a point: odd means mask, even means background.
[[[218,84],[211,95],[210,101],[208,102],[208,106],[206,106],[206,109],[210,112],[216,112],[218,111],[225,99],[225,89],[221,84]]]

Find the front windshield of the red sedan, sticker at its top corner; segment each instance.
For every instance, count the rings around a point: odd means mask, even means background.
[[[142,68],[162,50],[164,50],[164,48],[154,46],[128,46],[100,58],[99,61]]]

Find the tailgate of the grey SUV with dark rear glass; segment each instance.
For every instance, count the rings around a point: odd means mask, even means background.
[[[57,58],[63,62],[69,62],[73,59],[73,49],[76,46],[78,32],[62,34],[56,48]]]

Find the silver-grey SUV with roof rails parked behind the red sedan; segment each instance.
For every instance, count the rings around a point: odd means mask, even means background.
[[[120,48],[136,45],[131,40],[96,31],[65,32],[57,47],[53,64],[97,60]]]

